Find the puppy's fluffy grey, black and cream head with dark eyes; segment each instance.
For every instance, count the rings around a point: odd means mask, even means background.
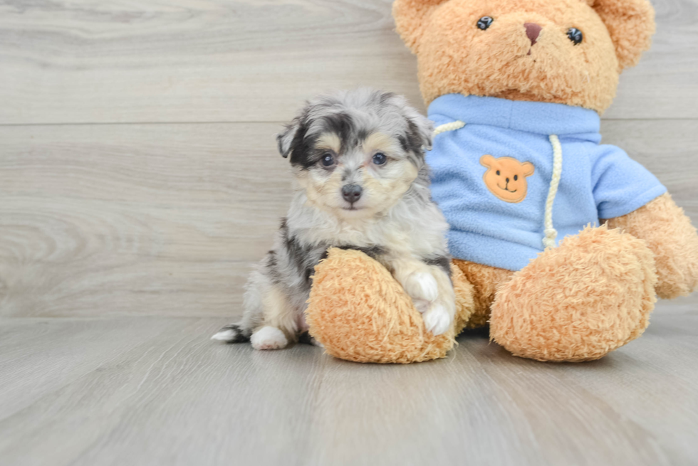
[[[410,189],[431,134],[402,97],[358,90],[310,102],[278,142],[308,203],[357,218],[386,211]]]

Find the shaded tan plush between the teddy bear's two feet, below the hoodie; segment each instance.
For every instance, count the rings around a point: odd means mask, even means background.
[[[497,287],[511,280],[514,272],[467,260],[454,259],[453,263],[463,272],[466,280],[472,283],[474,305],[468,322],[456,329],[459,332],[466,327],[469,329],[483,327],[489,320],[490,307]]]

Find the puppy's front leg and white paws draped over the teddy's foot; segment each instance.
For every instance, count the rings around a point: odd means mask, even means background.
[[[415,258],[394,258],[388,266],[422,312],[424,327],[434,335],[447,332],[456,314],[456,296],[449,275],[442,268]]]

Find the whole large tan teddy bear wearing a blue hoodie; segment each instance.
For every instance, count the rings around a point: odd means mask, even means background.
[[[426,332],[387,270],[330,250],[306,317],[333,356],[443,357],[489,324],[511,354],[599,359],[640,337],[657,297],[698,283],[698,234],[665,186],[600,144],[600,115],[650,46],[647,0],[397,0],[434,122],[432,196],[449,222],[457,316]]]

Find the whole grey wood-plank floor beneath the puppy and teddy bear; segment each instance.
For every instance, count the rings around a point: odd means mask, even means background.
[[[147,329],[139,329],[144,322]],[[353,364],[307,345],[262,352],[208,341],[223,322],[12,319],[15,338],[4,343],[3,352],[44,354],[46,360],[35,367],[34,356],[2,359],[8,364],[0,364],[1,386],[22,374],[50,381],[55,374],[86,372],[67,383],[37,383],[31,403],[23,387],[5,388],[0,408],[19,408],[0,417],[0,462],[698,461],[694,313],[657,315],[639,340],[582,364],[515,358],[476,334],[460,337],[457,349],[441,361]],[[46,332],[47,325],[52,331]],[[99,341],[90,333],[129,343]],[[35,334],[43,339],[32,339]],[[134,345],[138,339],[141,344]]]

